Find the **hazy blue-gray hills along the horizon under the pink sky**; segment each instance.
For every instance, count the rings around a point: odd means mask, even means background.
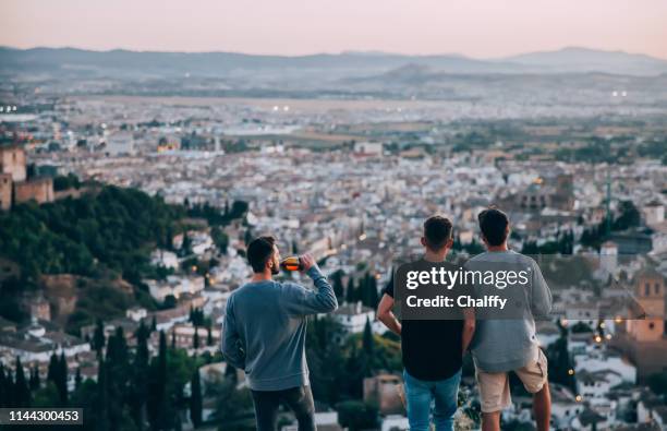
[[[342,79],[385,73],[405,65],[442,73],[525,74],[602,72],[619,75],[667,73],[667,60],[622,51],[565,48],[502,59],[480,60],[459,55],[407,56],[347,51],[337,55],[256,56],[234,52],[92,51],[74,48],[0,48],[0,72],[54,74],[243,76],[274,73],[318,73]]]

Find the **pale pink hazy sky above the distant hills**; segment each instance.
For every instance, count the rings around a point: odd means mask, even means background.
[[[666,0],[0,0],[0,45],[16,48],[667,59],[666,23]]]

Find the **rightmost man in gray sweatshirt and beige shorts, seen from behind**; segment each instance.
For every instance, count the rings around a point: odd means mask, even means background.
[[[510,298],[509,312],[493,310],[478,315],[471,350],[476,368],[482,404],[482,430],[500,430],[500,411],[511,404],[508,372],[513,371],[525,390],[533,394],[533,410],[537,431],[548,431],[551,410],[547,382],[547,359],[539,349],[535,334],[535,318],[546,318],[551,310],[551,292],[539,266],[529,256],[507,247],[509,219],[496,208],[478,215],[482,239],[487,252],[468,261],[465,270],[523,272],[526,283],[507,287],[502,295]],[[475,295],[483,297],[497,286],[475,284]]]

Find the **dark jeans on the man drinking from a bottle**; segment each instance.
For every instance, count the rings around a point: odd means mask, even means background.
[[[315,405],[311,386],[284,391],[252,391],[257,431],[276,431],[278,408],[283,403],[296,416],[299,431],[315,431]]]

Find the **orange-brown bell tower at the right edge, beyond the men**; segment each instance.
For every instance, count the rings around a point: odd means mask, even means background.
[[[634,296],[645,319],[629,320],[628,333],[638,342],[657,342],[665,333],[665,278],[653,268],[634,277]]]

